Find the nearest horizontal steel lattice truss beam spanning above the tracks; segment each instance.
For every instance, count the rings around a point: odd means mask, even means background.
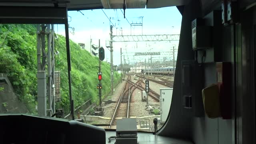
[[[179,34],[155,34],[155,35],[120,35],[110,36],[110,42],[156,42],[156,41],[178,41]]]

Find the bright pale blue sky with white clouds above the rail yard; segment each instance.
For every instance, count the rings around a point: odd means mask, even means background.
[[[104,14],[104,12],[105,15]],[[110,21],[113,26],[113,35],[143,35],[145,34],[180,34],[182,16],[176,7],[156,8],[156,9],[126,9],[124,18],[123,10],[81,10],[69,11],[69,26],[74,28],[74,35],[71,33],[70,39],[76,43],[84,43],[90,47],[90,38],[92,44],[105,49],[105,60],[110,62],[110,51],[106,48],[106,40],[110,40]],[[84,14],[84,15],[83,15]],[[143,21],[141,18],[143,16]],[[131,23],[141,23],[142,26],[130,27]],[[130,24],[129,24],[130,23]],[[64,25],[54,25],[55,33],[65,36]],[[163,42],[113,42],[113,64],[120,64],[120,48],[125,55],[127,62],[144,61],[147,56],[133,56],[134,52],[170,52],[172,47],[178,49],[178,41]],[[126,53],[127,52],[127,53]],[[177,55],[176,55],[177,56]],[[175,56],[175,57],[176,57]],[[163,56],[152,56],[152,60],[161,59]],[[166,57],[166,55],[165,55]],[[168,56],[172,58],[172,56]]]

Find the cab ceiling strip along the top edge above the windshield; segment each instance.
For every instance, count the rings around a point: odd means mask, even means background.
[[[68,10],[122,9],[123,0],[0,0],[0,6],[67,6]],[[190,0],[126,0],[126,8],[186,5]]]

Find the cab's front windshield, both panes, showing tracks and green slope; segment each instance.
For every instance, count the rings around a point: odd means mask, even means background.
[[[0,24],[0,113],[29,113],[116,129],[168,118],[182,16],[176,7],[68,12],[64,24]]]

